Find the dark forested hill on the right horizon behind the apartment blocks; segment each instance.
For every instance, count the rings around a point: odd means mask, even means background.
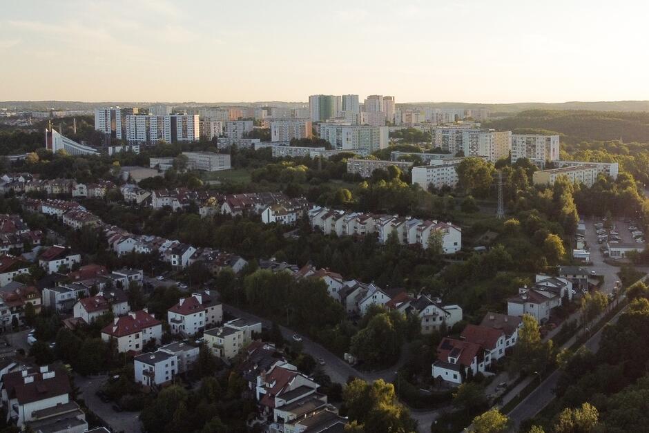
[[[500,130],[543,129],[561,133],[563,140],[649,143],[649,112],[594,110],[529,110],[492,119],[483,126]]]

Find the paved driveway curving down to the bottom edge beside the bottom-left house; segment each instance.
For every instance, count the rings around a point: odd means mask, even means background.
[[[74,374],[75,385],[79,387],[80,398],[86,402],[88,409],[92,410],[101,419],[110,424],[115,432],[139,433],[139,412],[115,412],[113,403],[104,403],[95,392],[104,385],[108,376],[80,376]]]

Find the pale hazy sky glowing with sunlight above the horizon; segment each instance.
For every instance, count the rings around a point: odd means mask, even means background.
[[[649,2],[0,2],[0,100],[649,99]]]

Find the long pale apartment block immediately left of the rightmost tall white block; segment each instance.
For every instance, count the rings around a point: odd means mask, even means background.
[[[456,155],[484,156],[496,162],[496,131],[494,129],[438,126],[432,128],[433,147]]]

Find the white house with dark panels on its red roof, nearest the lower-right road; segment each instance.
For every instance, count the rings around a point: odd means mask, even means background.
[[[439,381],[461,385],[467,374],[485,372],[485,349],[476,343],[443,338],[437,347],[432,376]]]

